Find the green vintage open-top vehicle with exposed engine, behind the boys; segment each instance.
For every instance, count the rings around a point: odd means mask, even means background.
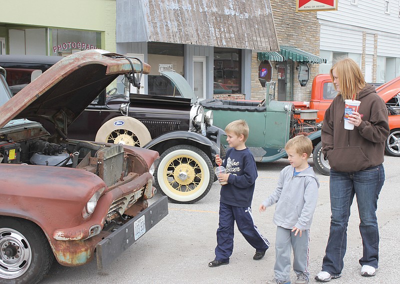
[[[276,101],[274,85],[267,83],[268,93],[261,102],[246,100],[205,99],[200,102],[205,110],[212,110],[214,125],[224,128],[233,119],[247,121],[250,132],[246,146],[255,161],[270,162],[286,157],[284,145],[298,134],[307,135],[314,146],[315,168],[329,174],[329,163],[322,155],[321,122],[315,122],[317,111],[295,110],[289,101]]]

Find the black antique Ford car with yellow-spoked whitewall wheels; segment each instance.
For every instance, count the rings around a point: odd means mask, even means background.
[[[51,64],[60,59],[50,57],[54,56],[35,59],[25,55],[0,55],[0,64],[7,70],[36,69],[35,64],[40,60]],[[196,102],[193,90],[180,74],[163,71],[151,78],[160,82],[163,95],[139,95],[133,89],[129,97],[125,95],[129,89],[123,94],[117,93],[116,88],[108,92],[99,90],[99,95],[68,127],[68,137],[158,151],[156,188],[173,202],[196,202],[207,194],[215,180],[215,155],[224,155],[220,153],[220,137],[224,131],[212,126],[212,112],[205,112]],[[53,128],[48,122],[41,122]]]

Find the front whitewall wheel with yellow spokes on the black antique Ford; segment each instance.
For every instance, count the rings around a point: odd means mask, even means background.
[[[190,204],[207,194],[213,177],[211,160],[202,150],[176,145],[161,154],[154,181],[170,201]]]

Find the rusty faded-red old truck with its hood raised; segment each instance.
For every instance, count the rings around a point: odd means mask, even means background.
[[[68,137],[72,121],[118,75],[149,71],[132,61],[80,51],[13,97],[0,68],[1,283],[37,283],[54,258],[77,266],[94,250],[106,267],[168,213],[166,197],[147,202],[156,151]]]

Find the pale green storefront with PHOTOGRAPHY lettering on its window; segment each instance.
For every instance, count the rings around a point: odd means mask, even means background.
[[[66,56],[92,48],[115,51],[114,19],[115,2],[110,0],[71,0],[62,10],[46,1],[4,0],[0,54]]]

